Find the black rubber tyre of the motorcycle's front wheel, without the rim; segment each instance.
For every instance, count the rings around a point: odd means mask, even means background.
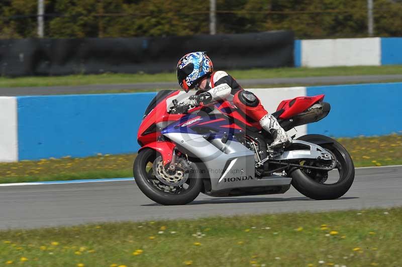
[[[152,182],[152,168],[147,171],[147,165],[153,163],[160,156],[152,149],[144,149],[138,153],[133,166],[134,180],[140,190],[153,201],[162,205],[184,205],[193,201],[202,190],[203,180],[199,179],[199,172],[195,164],[191,164],[193,170],[189,172],[188,187],[181,193],[166,193]]]

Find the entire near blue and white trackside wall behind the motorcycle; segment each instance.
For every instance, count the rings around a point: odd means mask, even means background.
[[[326,94],[330,114],[298,127],[298,136],[373,136],[402,130],[402,83],[250,90],[269,112],[283,99]],[[0,97],[0,162],[134,153],[138,126],[155,94]]]

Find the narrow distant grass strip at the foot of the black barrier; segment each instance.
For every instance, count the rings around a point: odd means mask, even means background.
[[[353,76],[353,75],[381,75],[400,74],[402,65],[393,66],[356,66],[356,67],[329,67],[329,68],[277,68],[277,69],[250,69],[231,70],[229,73],[236,79],[261,78],[295,78],[317,76]],[[86,85],[86,84],[128,84],[142,82],[175,82],[174,73],[158,74],[114,74],[99,75],[69,75],[45,77],[0,77],[0,87],[26,86],[57,86],[57,85]]]

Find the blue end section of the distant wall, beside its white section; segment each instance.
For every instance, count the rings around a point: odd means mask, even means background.
[[[381,38],[381,65],[402,64],[402,38]]]

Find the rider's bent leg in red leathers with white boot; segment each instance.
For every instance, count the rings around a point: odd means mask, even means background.
[[[272,148],[291,143],[291,138],[287,132],[279,125],[274,116],[268,114],[261,101],[252,92],[246,90],[237,92],[233,97],[233,103],[249,117],[259,121],[262,128],[272,135],[274,139],[271,144]]]

